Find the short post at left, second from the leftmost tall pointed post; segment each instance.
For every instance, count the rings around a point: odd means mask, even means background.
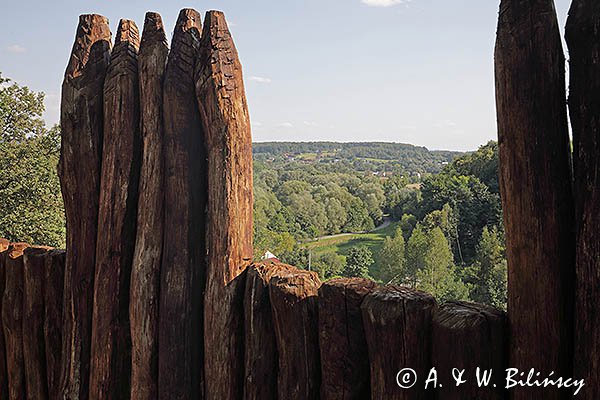
[[[44,341],[44,269],[47,247],[23,253],[23,361],[28,399],[48,399]],[[58,349],[54,349],[57,351]]]

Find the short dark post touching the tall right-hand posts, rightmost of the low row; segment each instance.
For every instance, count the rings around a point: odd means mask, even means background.
[[[439,400],[501,400],[507,398],[503,371],[508,368],[508,321],[493,307],[448,302],[433,316],[432,365],[438,371]],[[491,370],[488,386],[478,387],[477,368]],[[452,369],[464,369],[466,383],[456,387]],[[496,385],[493,387],[492,385]]]

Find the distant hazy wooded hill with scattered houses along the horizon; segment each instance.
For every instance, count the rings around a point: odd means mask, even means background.
[[[413,174],[437,173],[444,165],[464,155],[456,151],[431,151],[411,144],[385,142],[261,142],[253,144],[253,154],[260,161],[393,163]]]

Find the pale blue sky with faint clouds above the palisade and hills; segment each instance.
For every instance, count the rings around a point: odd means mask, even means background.
[[[473,150],[496,137],[497,0],[7,1],[0,71],[46,92],[60,84],[78,15],[137,22],[223,10],[242,64],[255,141],[390,141]],[[568,0],[556,1],[564,26]]]

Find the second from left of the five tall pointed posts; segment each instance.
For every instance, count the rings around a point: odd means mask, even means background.
[[[104,82],[90,399],[125,399],[131,391],[129,283],[141,158],[138,48],[135,23],[121,20]]]

